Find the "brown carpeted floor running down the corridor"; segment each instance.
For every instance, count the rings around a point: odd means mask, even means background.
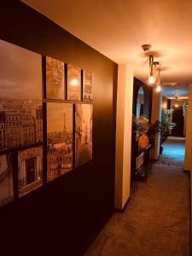
[[[125,212],[113,214],[85,256],[189,255],[189,175],[182,160],[174,165],[173,154],[168,163],[166,143],[166,161],[163,156],[154,165],[148,182],[138,184]]]

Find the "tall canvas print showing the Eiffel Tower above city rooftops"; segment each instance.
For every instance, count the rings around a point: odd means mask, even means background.
[[[47,103],[47,180],[73,169],[73,104]]]

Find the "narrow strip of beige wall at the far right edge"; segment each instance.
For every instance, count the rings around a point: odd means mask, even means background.
[[[191,170],[191,151],[192,151],[192,84],[189,84],[189,100],[186,121],[186,141],[185,141],[185,156],[184,156],[184,170]]]

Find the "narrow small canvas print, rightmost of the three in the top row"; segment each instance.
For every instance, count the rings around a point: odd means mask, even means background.
[[[93,102],[93,73],[84,70],[83,101]]]

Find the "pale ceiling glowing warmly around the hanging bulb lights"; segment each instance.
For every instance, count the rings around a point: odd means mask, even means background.
[[[162,82],[192,82],[191,0],[23,0],[33,9],[108,56],[135,66],[147,83],[148,58],[142,44],[152,44]]]

